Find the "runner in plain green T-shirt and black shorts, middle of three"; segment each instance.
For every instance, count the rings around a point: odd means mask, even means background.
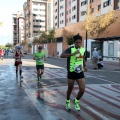
[[[40,82],[44,73],[44,61],[46,61],[45,53],[42,51],[42,46],[38,46],[38,51],[34,54],[33,59],[36,60],[37,78],[38,82]]]

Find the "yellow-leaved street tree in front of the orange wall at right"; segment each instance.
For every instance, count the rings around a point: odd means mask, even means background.
[[[91,36],[98,38],[108,28],[108,26],[116,21],[116,19],[117,17],[115,17],[113,10],[104,15],[95,17],[91,10],[88,9],[81,28],[86,30]]]

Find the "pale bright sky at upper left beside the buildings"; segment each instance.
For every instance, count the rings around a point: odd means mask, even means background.
[[[12,14],[23,10],[23,4],[27,0],[0,0],[0,45],[13,42]]]

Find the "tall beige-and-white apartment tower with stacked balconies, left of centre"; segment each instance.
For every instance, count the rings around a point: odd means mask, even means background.
[[[27,0],[24,9],[24,36],[33,40],[41,31],[53,28],[53,0]]]

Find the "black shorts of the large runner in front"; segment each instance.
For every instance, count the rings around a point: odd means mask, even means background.
[[[77,80],[77,79],[84,78],[84,72],[83,72],[83,71],[80,72],[80,73],[68,72],[67,78],[68,78],[68,79],[72,79],[72,80]]]

